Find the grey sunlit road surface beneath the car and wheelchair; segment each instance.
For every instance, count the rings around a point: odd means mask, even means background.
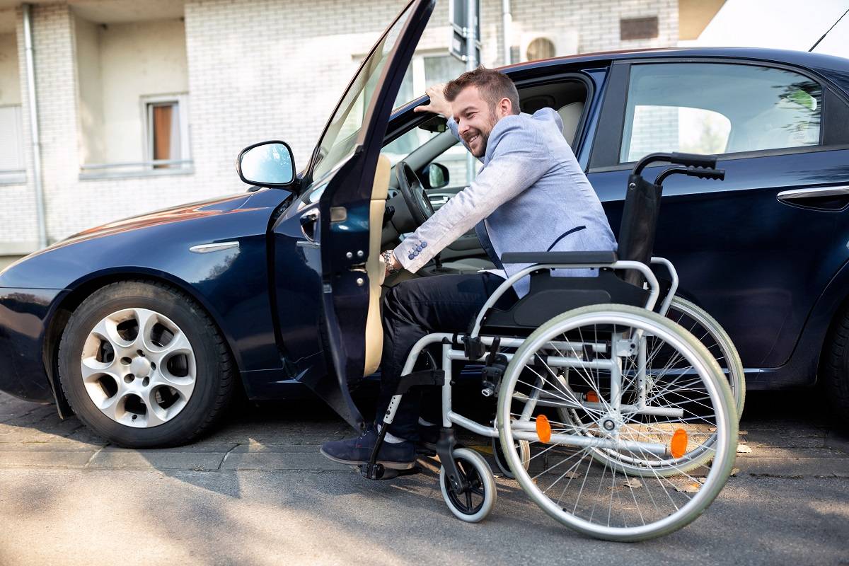
[[[622,544],[566,530],[508,479],[481,524],[448,512],[436,468],[363,479],[318,454],[351,434],[319,402],[243,408],[193,446],[131,451],[0,394],[0,564],[849,564],[849,437],[823,414],[815,393],[751,393],[751,452],[717,501]]]

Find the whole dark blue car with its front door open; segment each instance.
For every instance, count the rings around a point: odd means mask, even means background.
[[[0,389],[124,446],[194,440],[238,388],[312,390],[357,423],[348,386],[380,358],[379,252],[467,184],[444,120],[413,113],[423,98],[396,104],[432,9],[414,0],[381,36],[300,173],[284,143],[258,144],[240,174],[273,162],[278,182],[93,228],[4,270]],[[666,182],[655,255],[734,339],[749,389],[824,380],[846,419],[849,60],[663,49],[504,72],[523,111],[559,111],[613,227],[644,154],[719,155],[724,182]],[[426,199],[399,192],[400,158]],[[440,260],[418,275],[489,265],[473,233]]]

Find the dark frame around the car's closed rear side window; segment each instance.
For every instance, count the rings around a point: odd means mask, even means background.
[[[741,64],[768,69],[787,70],[816,82],[823,92],[822,114],[817,145],[797,146],[795,148],[756,149],[733,153],[717,154],[719,160],[743,160],[771,155],[806,154],[834,149],[849,149],[849,143],[826,143],[829,137],[829,109],[833,109],[835,98],[843,104],[849,103],[846,97],[836,92],[823,76],[811,70],[791,64],[781,64],[759,59],[734,59],[728,57],[669,57],[650,59],[626,59],[610,65],[610,84],[601,106],[599,130],[593,143],[588,172],[624,171],[633,169],[636,161],[619,163],[622,143],[625,138],[625,119],[627,112],[628,87],[631,81],[631,67],[635,64]],[[847,109],[849,110],[849,109]]]

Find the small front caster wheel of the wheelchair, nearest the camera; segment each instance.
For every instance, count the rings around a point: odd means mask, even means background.
[[[439,485],[442,499],[445,500],[451,513],[466,523],[477,523],[486,518],[495,506],[498,492],[492,470],[486,460],[469,448],[458,448],[453,451],[454,462],[468,487],[463,493],[457,494],[448,485],[445,468],[439,468]]]

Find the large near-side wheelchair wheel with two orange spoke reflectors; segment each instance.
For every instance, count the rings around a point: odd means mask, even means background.
[[[633,306],[582,307],[531,333],[504,374],[498,423],[531,499],[613,541],[689,524],[734,464],[737,415],[717,362],[678,324]],[[509,450],[517,440],[530,443],[528,469]],[[690,474],[696,457],[704,468]]]

